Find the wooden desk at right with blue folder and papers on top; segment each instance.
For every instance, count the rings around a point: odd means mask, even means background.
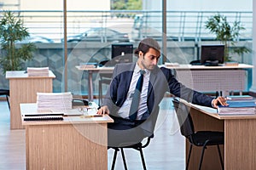
[[[190,105],[190,114],[197,130],[224,131],[224,169],[253,170],[256,167],[256,115],[255,116],[218,116],[212,108]],[[186,157],[189,153],[189,142],[186,142]],[[197,169],[201,148],[194,147],[190,158],[189,169]],[[216,147],[207,147],[202,169],[221,169]]]

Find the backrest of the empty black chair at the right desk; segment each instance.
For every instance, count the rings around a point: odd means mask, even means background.
[[[180,125],[180,131],[183,136],[189,138],[189,136],[195,133],[192,117],[189,114],[189,107],[177,99],[173,99],[172,103],[177,115],[177,120]]]

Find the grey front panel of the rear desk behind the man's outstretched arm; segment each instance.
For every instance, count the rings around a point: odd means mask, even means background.
[[[244,70],[177,70],[177,79],[189,88],[201,92],[243,91]]]

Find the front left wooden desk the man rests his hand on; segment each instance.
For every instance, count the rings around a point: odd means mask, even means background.
[[[20,104],[20,113],[37,112],[36,104]],[[24,122],[26,169],[108,169],[108,115],[64,121]]]

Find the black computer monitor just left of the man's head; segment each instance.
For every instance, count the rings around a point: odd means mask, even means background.
[[[133,56],[132,44],[112,44],[112,64],[117,63],[131,63]]]

